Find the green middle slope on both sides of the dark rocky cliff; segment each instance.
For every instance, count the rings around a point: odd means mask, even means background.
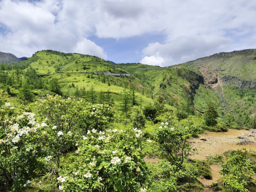
[[[173,67],[173,68],[160,68],[156,66],[148,66],[140,63],[127,63],[118,64],[130,73],[137,75],[139,78],[145,76],[149,79],[149,84],[153,85],[154,95],[164,95],[167,103],[169,104],[182,104],[185,103],[189,92],[191,93],[191,82],[196,81],[195,75],[191,73],[187,68]],[[140,68],[140,69],[138,69]],[[194,78],[193,78],[194,75]],[[166,85],[160,88],[160,84]],[[203,85],[203,84],[202,84]],[[194,97],[194,107],[201,112],[204,112],[206,104],[210,101],[217,103],[217,107],[220,106],[221,99],[210,89],[199,86],[196,89]],[[174,100],[174,101],[173,101]]]

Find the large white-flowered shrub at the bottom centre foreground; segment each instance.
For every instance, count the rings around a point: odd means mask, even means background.
[[[147,167],[141,155],[142,132],[131,130],[92,130],[81,137],[72,162],[60,175],[63,191],[139,191]],[[144,188],[142,188],[144,190]]]

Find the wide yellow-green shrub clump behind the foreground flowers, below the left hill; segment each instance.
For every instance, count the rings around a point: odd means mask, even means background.
[[[113,121],[112,107],[104,104],[87,104],[84,100],[63,99],[61,96],[48,95],[36,102],[36,109],[47,121],[56,126],[57,131],[68,133],[75,129],[81,133],[98,129]]]

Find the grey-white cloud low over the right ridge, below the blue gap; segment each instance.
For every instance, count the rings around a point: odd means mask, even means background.
[[[164,58],[161,66],[170,66],[229,49],[230,43],[230,39],[219,36],[179,36],[165,44],[148,44],[142,52],[144,55]]]

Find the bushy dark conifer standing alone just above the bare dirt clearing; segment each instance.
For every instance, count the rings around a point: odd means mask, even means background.
[[[204,112],[204,120],[207,126],[214,126],[217,124],[217,117],[219,117],[216,108],[212,102],[208,103],[207,109]]]

